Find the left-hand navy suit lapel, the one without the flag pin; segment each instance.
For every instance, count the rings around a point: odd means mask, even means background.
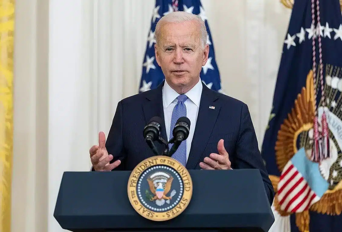
[[[143,104],[143,112],[145,115],[146,124],[154,116],[158,116],[162,119],[160,135],[163,139],[167,140],[164,110],[163,110],[163,98],[162,98],[163,85],[164,85],[164,82],[162,82],[156,89],[150,90],[146,94],[146,102]],[[155,145],[158,146],[158,150],[162,152],[162,150],[160,150],[161,146],[159,146],[159,143],[156,142]]]

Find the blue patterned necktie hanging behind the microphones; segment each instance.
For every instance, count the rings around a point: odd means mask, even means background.
[[[173,138],[172,132],[173,128],[176,125],[177,120],[180,117],[186,117],[186,106],[184,102],[188,97],[185,94],[182,94],[177,97],[178,102],[174,106],[171,116],[171,126],[170,126],[170,139]],[[169,144],[169,149],[171,149],[173,144]],[[183,140],[182,143],[179,145],[178,149],[173,153],[172,158],[183,164],[186,165],[186,140]]]

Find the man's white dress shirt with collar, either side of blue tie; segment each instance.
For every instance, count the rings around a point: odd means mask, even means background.
[[[164,109],[164,118],[165,118],[165,128],[166,134],[168,136],[168,141],[170,140],[170,126],[171,126],[171,117],[174,106],[177,104],[177,97],[180,94],[177,93],[174,89],[170,87],[170,85],[166,82],[164,83],[162,89],[163,96],[163,109]],[[202,82],[199,79],[198,83],[190,89],[185,95],[188,97],[186,99],[186,117],[190,120],[190,132],[189,136],[186,139],[186,161],[189,157],[189,152],[191,148],[191,142],[194,137],[194,131],[197,121],[199,103],[201,101],[202,95]]]

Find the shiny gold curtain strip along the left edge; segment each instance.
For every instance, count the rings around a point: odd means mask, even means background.
[[[0,231],[11,231],[14,0],[0,0]]]

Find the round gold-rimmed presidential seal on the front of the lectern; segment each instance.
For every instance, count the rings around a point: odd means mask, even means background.
[[[166,221],[189,205],[193,184],[187,169],[168,156],[153,156],[132,171],[127,186],[131,205],[141,216]]]

